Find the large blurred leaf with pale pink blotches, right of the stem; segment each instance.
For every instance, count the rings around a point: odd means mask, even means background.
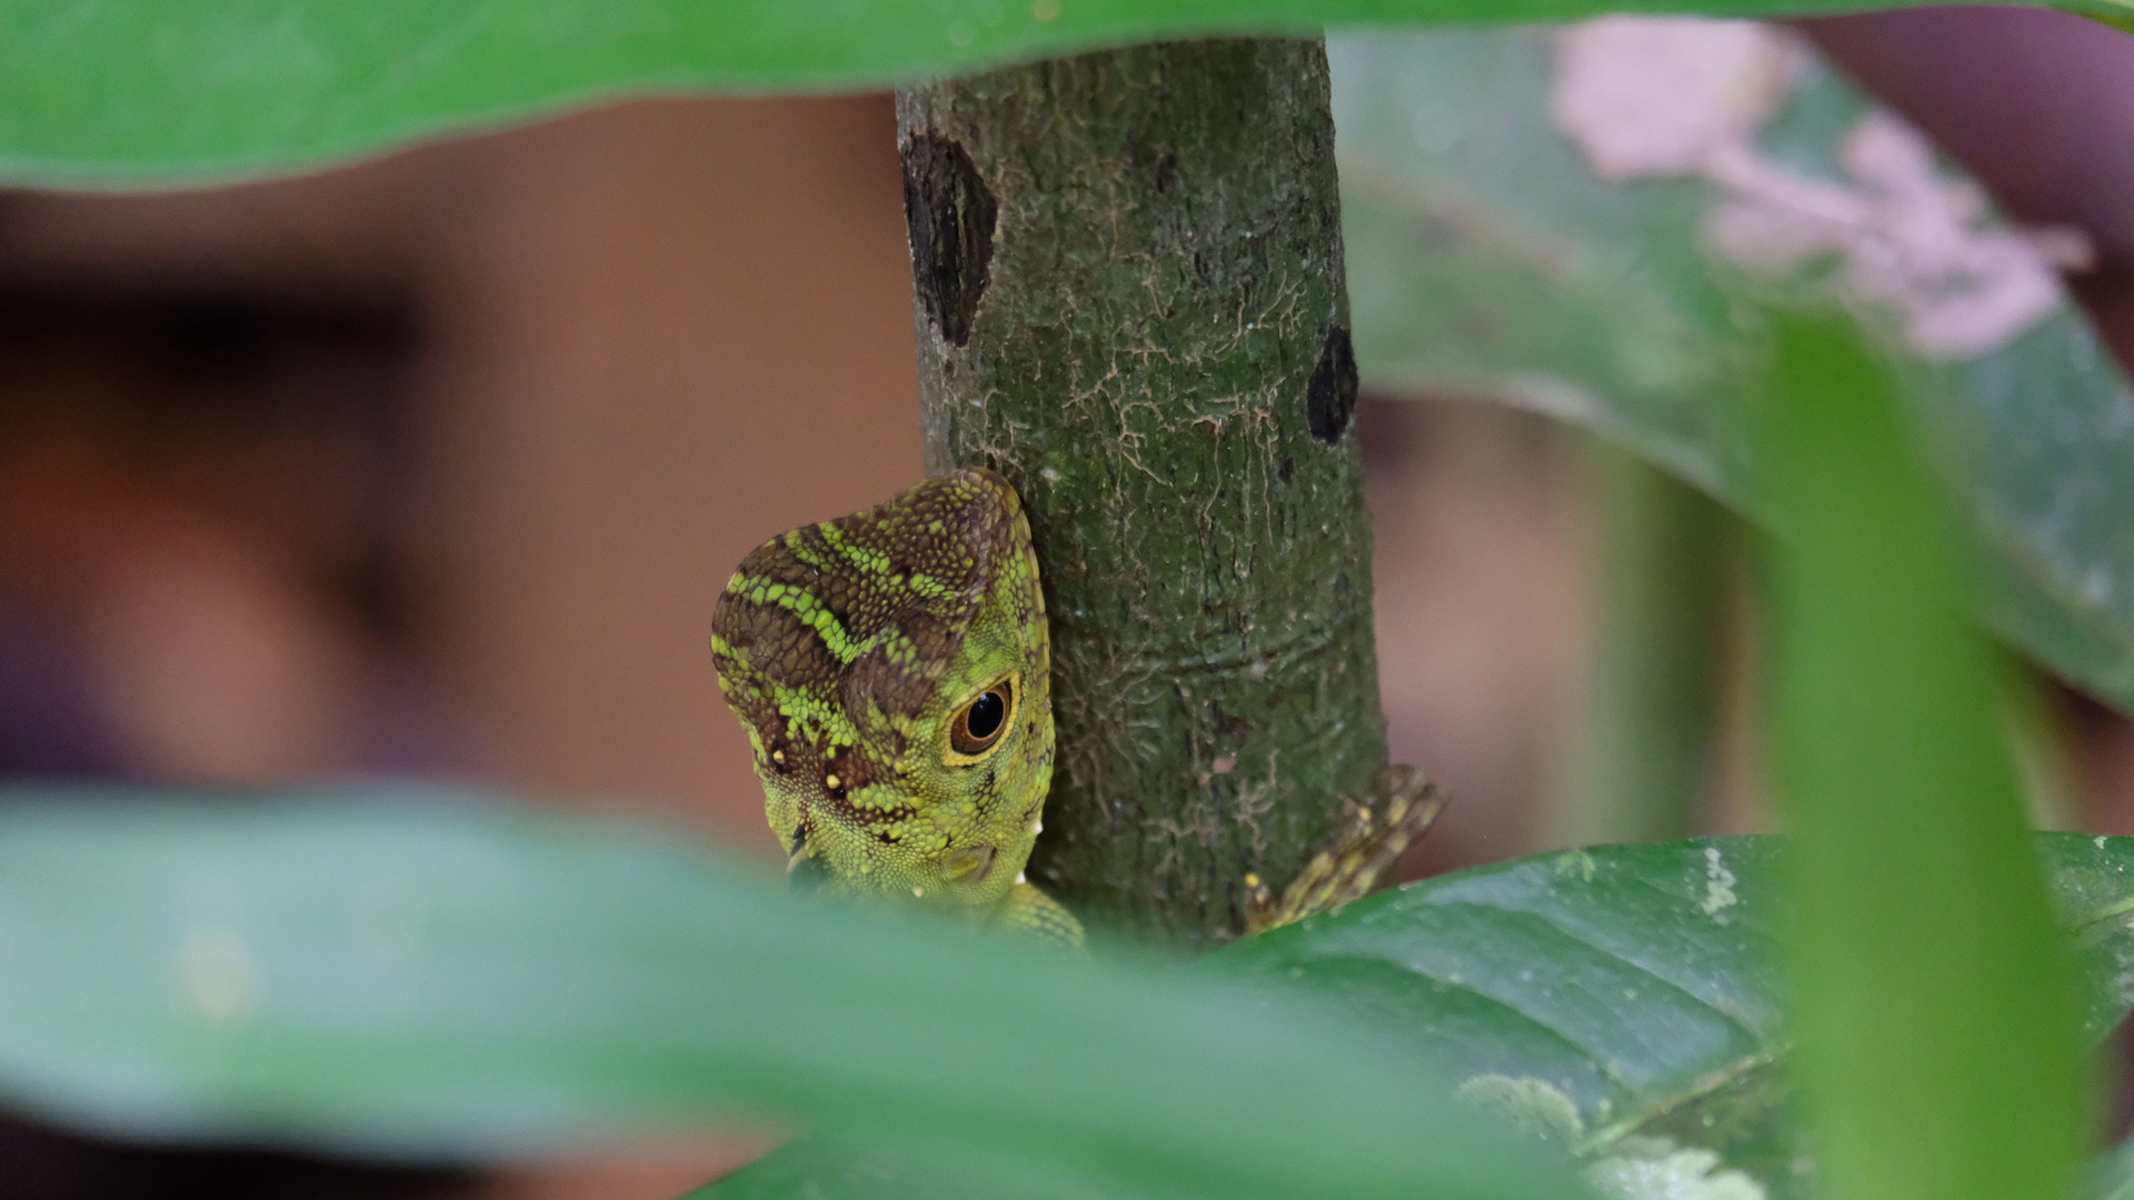
[[[1656,56],[1645,73],[1694,105],[1694,88],[1667,73],[1667,36],[1613,51]],[[1603,179],[1586,147],[1626,135],[1564,117],[1566,45],[1545,30],[1329,43],[1366,386],[1536,408],[1769,519],[1743,410],[1771,354],[1756,314],[1771,299],[1846,293],[1946,451],[1989,559],[1991,623],[2134,709],[2134,393],[2081,314],[2025,293],[2040,275],[2021,263],[2000,290],[1976,286],[1965,271],[2000,269],[2019,243],[1963,222],[1976,203],[1963,186],[1906,179],[1906,135],[1869,120],[1805,47],[1773,41],[1782,62],[1754,47],[1729,60],[1720,102],[1778,81],[1769,117],[1731,160],[1641,171],[1637,145],[1615,145],[1618,177]],[[1739,51],[1724,32],[1679,45],[1707,62]],[[1605,38],[1579,49],[1605,79]],[[1639,117],[1633,107],[1618,120]],[[1912,222],[1910,241],[1818,228],[1833,211],[1861,226]],[[1936,275],[1921,265],[1933,254],[1976,260]],[[1897,284],[1861,286],[1863,260],[1897,260]],[[1910,310],[1861,299],[1876,284],[1914,286]],[[2034,320],[1993,327],[1985,312],[1980,333],[1978,310],[1993,303]]]

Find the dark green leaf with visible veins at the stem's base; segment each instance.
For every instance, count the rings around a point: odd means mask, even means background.
[[[1310,993],[1357,1027],[1391,1029],[1391,1053],[1438,1063],[1594,1174],[1739,1170],[1773,1198],[1805,1196],[1780,1072],[1782,841],[1603,846],[1455,871],[1240,942],[1195,974]],[[2074,931],[2087,1031],[2102,1038],[2134,1001],[2134,839],[2047,833],[2036,846]],[[805,1138],[706,1196],[903,1200],[956,1194],[956,1179]]]

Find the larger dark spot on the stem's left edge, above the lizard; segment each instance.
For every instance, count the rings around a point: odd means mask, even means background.
[[[911,286],[941,337],[969,346],[977,297],[992,278],[999,203],[971,152],[952,137],[915,132],[905,139],[903,160]]]

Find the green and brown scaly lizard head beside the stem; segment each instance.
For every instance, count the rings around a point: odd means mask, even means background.
[[[1052,649],[1022,502],[965,470],[764,542],[711,621],[792,867],[988,905],[1052,784]]]

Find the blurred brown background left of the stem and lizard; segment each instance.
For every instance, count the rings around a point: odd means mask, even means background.
[[[760,540],[922,474],[886,96],[6,196],[0,346],[11,775],[469,777],[770,852],[713,600]],[[674,1196],[745,1153],[489,1189]],[[9,1198],[356,1187],[245,1159],[190,1189],[169,1155],[122,1185],[30,1132],[0,1155]]]

